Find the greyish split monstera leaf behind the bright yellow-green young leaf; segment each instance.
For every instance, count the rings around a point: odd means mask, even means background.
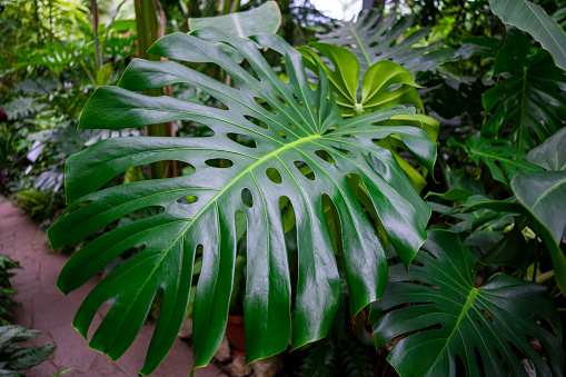
[[[413,48],[431,30],[420,28],[406,39],[399,38],[413,26],[415,14],[384,18],[380,10],[361,11],[356,22],[346,22],[341,28],[319,36],[320,42],[341,46],[358,58],[361,72],[375,62],[393,60],[411,73],[433,70],[453,57],[451,51],[440,49],[441,40],[427,47]]]

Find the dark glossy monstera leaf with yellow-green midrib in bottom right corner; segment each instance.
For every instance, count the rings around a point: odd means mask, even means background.
[[[373,310],[387,310],[413,304],[375,325],[377,346],[410,334],[387,358],[399,375],[456,376],[459,358],[468,376],[480,370],[486,376],[527,376],[518,349],[537,376],[562,376],[560,340],[539,325],[547,321],[562,338],[560,317],[544,287],[504,274],[475,287],[476,257],[446,230],[429,231],[415,261],[410,277],[401,266],[393,266],[384,297],[371,305]],[[540,341],[542,354],[530,345],[533,338]]]

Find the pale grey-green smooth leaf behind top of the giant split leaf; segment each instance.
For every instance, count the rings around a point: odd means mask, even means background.
[[[276,1],[266,1],[258,8],[244,12],[189,19],[190,30],[214,27],[240,38],[262,32],[276,33],[280,24],[281,12]]]

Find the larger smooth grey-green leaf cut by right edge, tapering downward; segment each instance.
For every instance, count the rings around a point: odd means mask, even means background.
[[[555,277],[566,289],[566,257],[560,250],[566,228],[566,171],[540,171],[516,176],[512,189],[517,199],[538,221],[538,230],[550,251]]]

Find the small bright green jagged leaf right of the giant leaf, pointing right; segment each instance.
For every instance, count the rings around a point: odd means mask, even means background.
[[[479,166],[484,162],[494,179],[507,183],[518,173],[539,171],[540,168],[527,161],[525,152],[513,148],[505,139],[489,139],[479,132],[459,143],[455,139],[448,140],[448,146],[458,146]]]

